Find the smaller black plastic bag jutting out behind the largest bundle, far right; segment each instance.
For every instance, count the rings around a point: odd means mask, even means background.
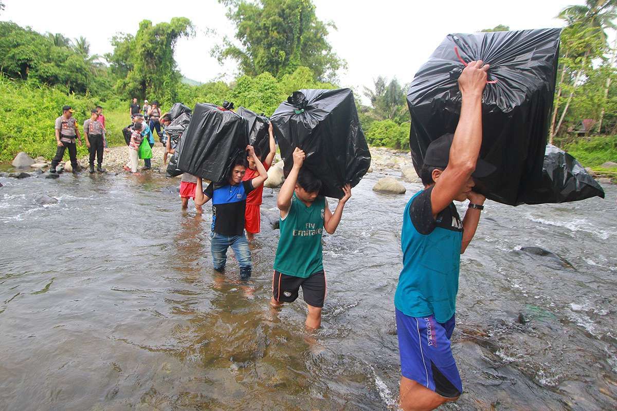
[[[523,200],[527,204],[566,203],[595,196],[604,198],[604,190],[574,157],[549,144],[542,179],[531,185],[525,195]]]

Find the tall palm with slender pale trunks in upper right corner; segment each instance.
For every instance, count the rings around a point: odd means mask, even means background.
[[[607,48],[607,28],[615,28],[613,20],[617,17],[615,8],[617,7],[617,0],[586,0],[584,5],[569,6],[561,10],[557,15],[558,18],[565,20],[568,23],[568,28],[579,28],[584,32],[584,36],[588,37],[591,41],[600,41],[603,49]],[[589,57],[590,50],[587,49],[582,56],[582,67],[585,66],[587,57]],[[568,51],[566,51],[565,58],[568,58]],[[561,80],[557,91],[557,99],[555,99],[555,107],[553,108],[553,116],[550,124],[550,137],[549,143],[553,143],[553,137],[559,131],[561,123],[565,118],[566,112],[572,98],[574,96],[574,89],[578,86],[583,70],[578,70],[574,78],[573,87],[566,101],[566,106],[561,112],[561,117],[555,127],[555,120],[557,120],[557,111],[559,108],[558,99],[561,97],[561,90],[563,85],[563,79],[566,74],[566,65],[563,65],[561,71]]]

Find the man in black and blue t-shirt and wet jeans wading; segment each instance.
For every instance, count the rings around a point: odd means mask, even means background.
[[[266,181],[268,174],[263,164],[255,155],[251,145],[246,147],[249,157],[255,161],[259,176],[252,180],[242,181],[246,172],[244,154],[236,157],[227,181],[215,187],[210,183],[203,190],[201,177],[197,177],[195,190],[195,205],[202,206],[212,199],[212,260],[217,272],[225,270],[227,249],[231,246],[240,266],[240,279],[251,278],[251,250],[244,236],[244,213],[246,212],[246,196]]]

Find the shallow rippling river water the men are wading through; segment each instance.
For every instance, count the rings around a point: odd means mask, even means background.
[[[395,410],[400,226],[420,185],[375,193],[381,176],[367,174],[323,237],[328,295],[312,336],[301,297],[268,308],[267,220],[245,285],[233,258],[213,272],[211,208],[183,213],[179,179],[0,178],[0,409]],[[41,193],[59,202],[38,205]],[[452,337],[465,394],[444,409],[616,408],[616,197],[487,201]]]

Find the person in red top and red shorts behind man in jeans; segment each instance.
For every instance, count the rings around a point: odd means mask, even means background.
[[[272,160],[274,160],[274,155],[276,154],[276,142],[274,140],[274,134],[272,132],[272,123],[268,127],[268,133],[270,133],[270,152],[263,160],[263,153],[260,153],[257,147],[255,147],[255,154],[259,157],[259,160],[263,161],[263,168],[268,171],[270,166],[272,165]],[[257,165],[255,165],[255,160],[252,157],[246,158],[249,161],[249,168],[246,169],[246,173],[244,173],[244,177],[242,177],[242,181],[252,180],[255,177],[259,176],[259,171],[257,171]],[[252,190],[246,196],[246,211],[244,213],[244,229],[246,229],[246,238],[249,241],[252,241],[255,238],[255,234],[260,231],[260,222],[261,222],[261,211],[260,205],[262,204],[262,195],[263,195],[263,185],[258,187],[255,190]]]

